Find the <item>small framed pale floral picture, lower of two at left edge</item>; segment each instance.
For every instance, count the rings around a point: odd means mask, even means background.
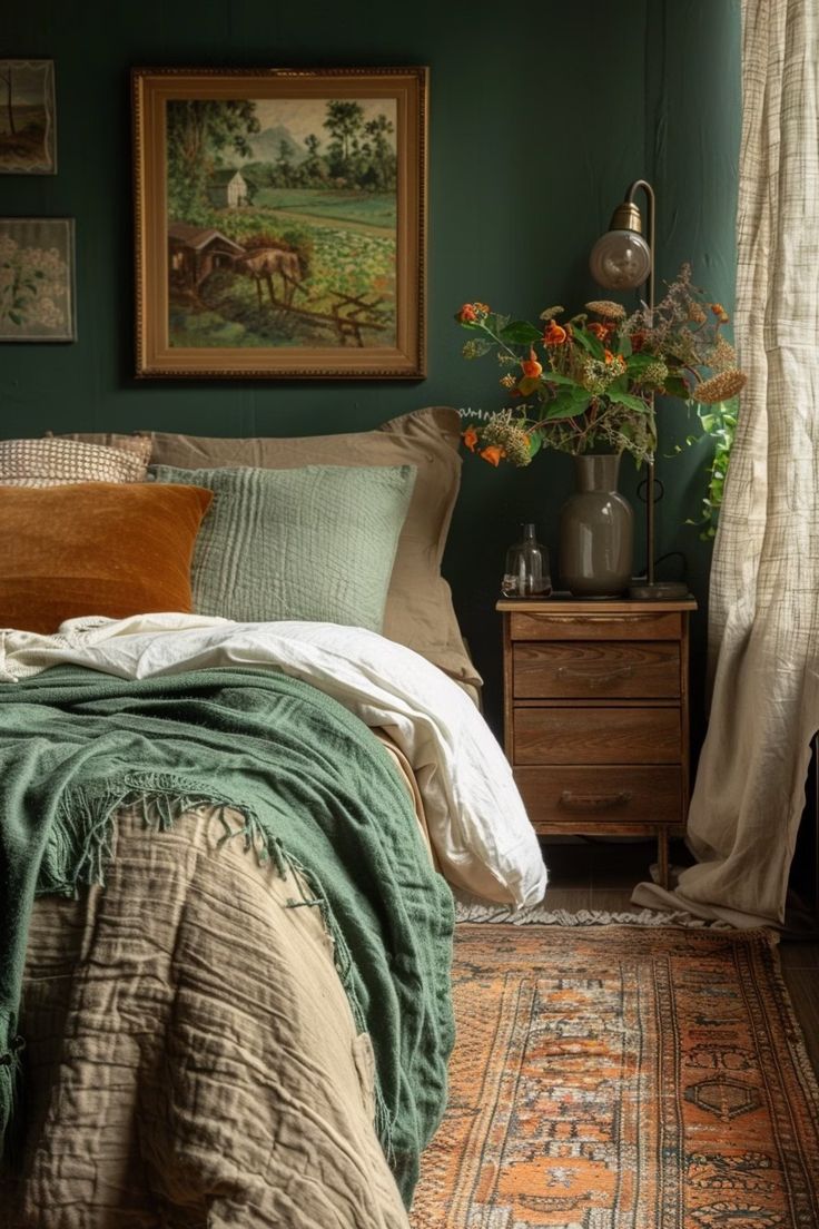
[[[74,219],[0,218],[0,342],[75,342]]]

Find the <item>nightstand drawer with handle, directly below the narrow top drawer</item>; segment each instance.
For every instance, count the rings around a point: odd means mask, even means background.
[[[680,694],[680,649],[673,640],[518,640],[512,671],[516,699]]]

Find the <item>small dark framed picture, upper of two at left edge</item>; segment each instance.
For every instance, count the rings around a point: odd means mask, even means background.
[[[0,60],[0,175],[56,175],[54,60]]]

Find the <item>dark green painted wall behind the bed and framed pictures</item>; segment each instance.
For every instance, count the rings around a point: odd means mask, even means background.
[[[0,435],[156,428],[305,435],[375,426],[424,404],[496,408],[491,359],[460,358],[468,299],[526,316],[599,295],[591,245],[627,184],[657,190],[657,273],[683,259],[732,302],[739,138],[738,0],[411,7],[302,0],[33,0],[6,6],[0,55],[53,58],[56,177],[0,177],[0,214],[76,218],[79,340],[0,348]],[[138,382],[133,370],[129,69],[133,65],[427,64],[431,70],[429,376],[383,382]],[[663,412],[663,451],[688,434]],[[710,547],[697,515],[702,449],[658,471],[658,549],[683,551],[706,600]],[[624,463],[624,490],[635,473]],[[503,551],[534,520],[556,563],[569,458],[529,471],[468,458],[444,570],[497,724],[494,602]],[[639,522],[642,522],[639,515]],[[637,556],[641,554],[640,546]],[[669,560],[677,564],[678,560]],[[669,573],[670,574],[670,573]],[[695,624],[694,694],[704,613]]]

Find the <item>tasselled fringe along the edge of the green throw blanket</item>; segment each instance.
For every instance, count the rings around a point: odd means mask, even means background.
[[[38,895],[76,897],[82,887],[90,887],[92,884],[104,886],[104,870],[113,854],[115,820],[119,811],[126,807],[134,809],[146,828],[168,832],[182,815],[204,806],[217,809],[217,819],[225,830],[219,848],[238,837],[246,850],[255,850],[260,864],[273,863],[281,879],[292,874],[301,900],[289,901],[286,907],[311,905],[319,908],[324,927],[333,941],[335,968],[350,1002],[356,1027],[359,1032],[366,1032],[366,1016],[352,981],[352,956],[341,928],[333,917],[320,882],[285,849],[279,837],[270,832],[252,807],[227,801],[204,788],[201,783],[182,780],[179,777],[165,773],[141,773],[125,775],[117,783],[75,787],[66,790],[60,800],[43,857]],[[228,811],[232,816],[238,814],[242,817],[241,827],[228,817]],[[305,893],[303,885],[309,895]],[[18,1058],[14,1063],[0,1066],[0,1109],[5,1109],[9,1104],[9,1117],[12,1112],[11,1101],[6,1099],[6,1086],[2,1082],[12,1079],[12,1067],[14,1079],[18,1080]],[[393,1123],[377,1075],[375,1102],[376,1131],[387,1161],[392,1165],[395,1156]],[[0,1117],[0,1143],[4,1131],[5,1123]]]

